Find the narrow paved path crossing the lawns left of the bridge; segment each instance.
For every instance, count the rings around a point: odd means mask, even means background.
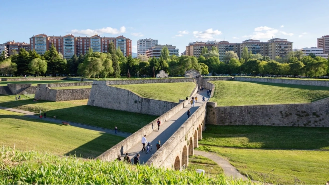
[[[6,111],[23,113],[23,114],[26,114],[25,116],[28,117],[28,118],[40,119],[39,116],[35,115],[37,113],[34,113],[34,112],[23,111],[23,110],[12,109],[12,108],[6,108],[6,107],[0,107],[0,109],[6,110]],[[59,119],[43,118],[42,117],[42,120],[52,122],[52,123],[58,123],[58,124],[62,124],[62,122],[66,122],[66,123],[69,123],[73,127],[79,127],[79,128],[98,131],[98,132],[104,132],[104,133],[108,133],[108,134],[112,134],[112,135],[116,135],[116,136],[121,136],[121,137],[124,137],[124,138],[131,135],[130,133],[119,132],[119,131],[117,132],[117,134],[115,134],[114,130],[111,130],[111,129],[105,129],[105,128],[101,128],[101,127],[94,127],[94,126],[89,126],[89,125],[85,125],[85,124],[81,124],[81,123],[75,123],[75,122],[64,121],[64,120],[59,120]]]

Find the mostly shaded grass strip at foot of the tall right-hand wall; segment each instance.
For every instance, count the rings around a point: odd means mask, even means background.
[[[202,137],[219,147],[329,150],[329,128],[207,125]]]

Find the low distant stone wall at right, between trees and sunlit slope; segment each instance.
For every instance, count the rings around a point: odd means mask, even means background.
[[[266,83],[283,83],[293,85],[313,85],[329,87],[329,80],[298,80],[298,79],[281,79],[281,78],[262,78],[262,77],[234,77],[236,81],[247,82],[266,82]]]

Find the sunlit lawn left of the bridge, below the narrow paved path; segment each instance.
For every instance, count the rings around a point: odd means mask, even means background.
[[[95,158],[124,138],[0,110],[0,146]]]

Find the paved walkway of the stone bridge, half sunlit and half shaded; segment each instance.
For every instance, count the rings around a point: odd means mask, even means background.
[[[184,107],[181,111],[172,116],[166,122],[161,123],[159,131],[158,126],[154,125],[154,131],[146,136],[147,142],[151,142],[152,151],[148,154],[146,154],[145,152],[141,152],[143,145],[141,142],[138,142],[134,147],[127,151],[129,153],[130,159],[133,159],[137,154],[139,154],[140,164],[146,163],[147,160],[149,160],[151,156],[156,152],[156,143],[160,140],[161,145],[163,145],[188,119],[187,111],[190,109],[192,115],[199,108],[199,106],[202,105],[202,96],[205,96],[205,100],[208,101],[207,90],[208,89],[204,89],[204,91],[199,91],[196,94],[196,96],[198,97],[198,103],[195,103],[195,107],[191,107],[191,104],[188,104],[186,107]]]

